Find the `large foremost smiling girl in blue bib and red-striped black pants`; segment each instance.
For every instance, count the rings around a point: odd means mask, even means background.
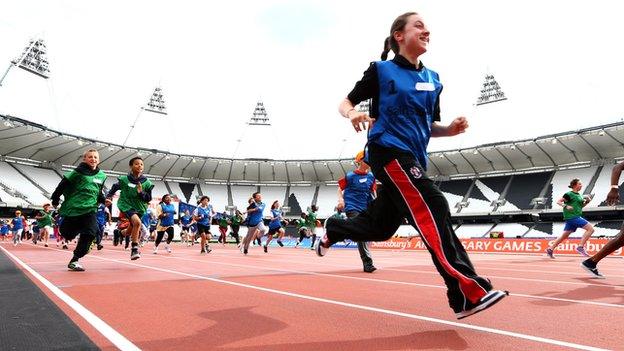
[[[332,244],[344,239],[384,241],[407,218],[421,233],[446,283],[449,304],[461,319],[491,307],[507,293],[493,290],[488,279],[477,275],[453,231],[444,194],[425,174],[429,138],[457,135],[468,127],[465,117],[446,126],[438,123],[442,84],[420,61],[429,34],[418,13],[397,17],[385,41],[383,61],[372,63],[341,102],[340,113],[356,132],[370,128],[365,160],[383,189],[357,217],[327,219],[325,235],[315,248],[317,255],[325,256]],[[390,49],[395,57],[385,61]],[[354,107],[367,99],[372,99],[371,116]]]

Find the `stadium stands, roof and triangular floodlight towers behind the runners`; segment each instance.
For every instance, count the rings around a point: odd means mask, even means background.
[[[17,66],[48,78],[45,54],[43,41],[32,40],[9,69]],[[493,75],[486,77],[481,92],[477,105],[506,99]],[[366,109],[365,105],[359,108]],[[142,110],[167,114],[160,87]],[[270,120],[259,102],[248,126],[267,125]],[[155,184],[156,198],[174,194],[179,201],[194,203],[198,197],[208,195],[217,211],[232,211],[246,207],[249,196],[260,191],[265,202],[281,201],[291,218],[312,204],[319,207],[319,218],[331,216],[337,182],[353,169],[350,158],[223,158],[129,147],[126,142],[120,145],[73,135],[4,114],[0,115],[0,216],[7,217],[16,208],[35,210],[49,202],[62,173],[78,165],[87,149],[99,151],[100,168],[109,175],[107,187],[117,175],[125,174],[130,158],[142,156],[145,173]],[[494,232],[512,237],[548,237],[561,232],[561,210],[553,204],[568,190],[572,178],[582,181],[584,194],[594,196],[585,217],[596,226],[595,235],[612,236],[621,227],[624,207],[605,206],[603,201],[609,191],[612,166],[622,158],[622,149],[624,122],[617,122],[431,152],[428,175],[448,200],[460,237],[486,237]],[[406,225],[400,234],[416,233]]]

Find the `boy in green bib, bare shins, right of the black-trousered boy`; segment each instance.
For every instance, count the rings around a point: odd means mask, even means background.
[[[143,159],[139,156],[133,157],[128,162],[130,173],[117,178],[117,183],[113,184],[108,192],[107,198],[111,199],[120,190],[117,208],[119,217],[128,219],[128,227],[121,231],[124,237],[132,240],[130,259],[141,258],[139,252],[139,233],[141,232],[141,216],[147,211],[147,204],[152,200],[152,189],[154,185],[143,175]]]

